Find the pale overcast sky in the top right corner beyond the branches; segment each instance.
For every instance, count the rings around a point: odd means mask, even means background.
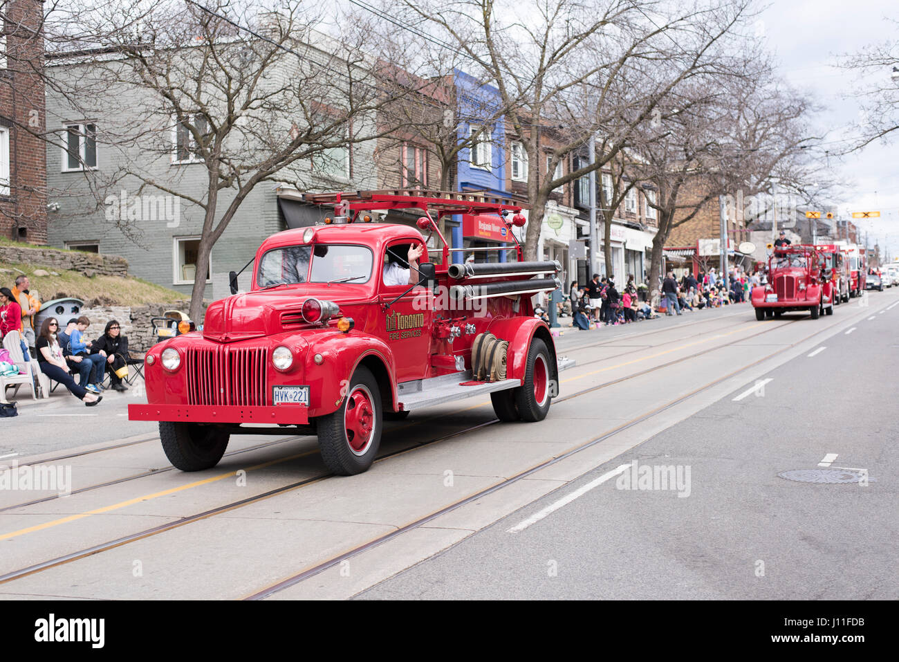
[[[843,130],[859,120],[859,104],[850,95],[857,82],[850,72],[836,67],[844,53],[865,45],[899,37],[899,27],[885,18],[899,19],[896,0],[774,0],[760,16],[761,31],[780,63],[780,73],[827,106],[817,121],[829,130],[825,140],[846,137]],[[889,80],[890,71],[883,72]],[[899,117],[899,109],[896,116]],[[897,136],[899,139],[899,136]],[[823,149],[838,147],[825,145]],[[831,157],[831,165],[850,183],[839,209],[880,211],[879,220],[855,220],[868,229],[869,243],[888,242],[891,255],[899,255],[899,140],[892,145],[872,144],[857,155]],[[826,155],[822,155],[826,158]]]

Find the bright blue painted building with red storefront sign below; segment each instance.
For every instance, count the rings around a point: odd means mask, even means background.
[[[475,76],[456,69],[453,73],[456,92],[457,131],[459,142],[467,141],[478,130],[478,139],[470,148],[459,151],[456,182],[459,192],[484,191],[496,196],[510,195],[505,189],[506,142],[505,121],[500,113],[499,90],[482,84]],[[485,230],[479,233],[462,222],[461,216],[452,228],[452,245],[464,248],[501,246],[504,237]],[[504,228],[503,234],[504,234]],[[506,261],[506,251],[477,252],[477,262]],[[497,257],[498,255],[498,257]],[[453,251],[452,261],[462,262],[464,251]]]

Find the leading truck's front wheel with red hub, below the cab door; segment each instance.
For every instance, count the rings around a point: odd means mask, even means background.
[[[354,416],[357,407],[362,408]],[[356,416],[356,429],[348,430],[346,422]],[[327,468],[338,476],[353,476],[368,470],[378,454],[382,421],[378,380],[368,368],[359,367],[352,375],[341,406],[317,421],[318,446]],[[365,430],[368,434],[363,437]]]

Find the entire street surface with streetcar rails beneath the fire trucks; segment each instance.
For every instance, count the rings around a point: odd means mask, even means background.
[[[289,432],[234,435],[217,467],[174,470],[155,425],[119,416],[135,391],[97,411],[67,393],[23,405],[4,449],[43,481],[0,489],[0,599],[895,596],[896,430],[860,413],[889,406],[865,384],[895,371],[899,291],[864,301],[569,332],[558,346],[578,363],[544,421],[500,424],[489,398],[429,407],[385,425],[378,461],[349,478]],[[34,457],[41,443],[76,448]],[[868,487],[777,476],[833,454]],[[612,477],[508,532],[634,460],[689,482]]]

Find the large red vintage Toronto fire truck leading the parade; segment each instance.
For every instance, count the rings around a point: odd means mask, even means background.
[[[556,290],[561,267],[522,261],[512,234],[526,222],[521,206],[447,192],[305,199],[333,205],[334,217],[266,239],[250,291],[213,302],[201,331],[147,353],[148,404],[129,416],[159,421],[175,467],[215,466],[231,434],[290,429],[317,434],[328,468],[351,475],[374,461],[382,422],[415,409],[489,393],[503,421],[547,416],[558,371],[574,362],[557,358],[534,317],[531,297]],[[417,227],[373,223],[375,210],[421,216]],[[457,214],[499,224],[518,261],[486,248],[494,261],[450,264],[439,221]]]

